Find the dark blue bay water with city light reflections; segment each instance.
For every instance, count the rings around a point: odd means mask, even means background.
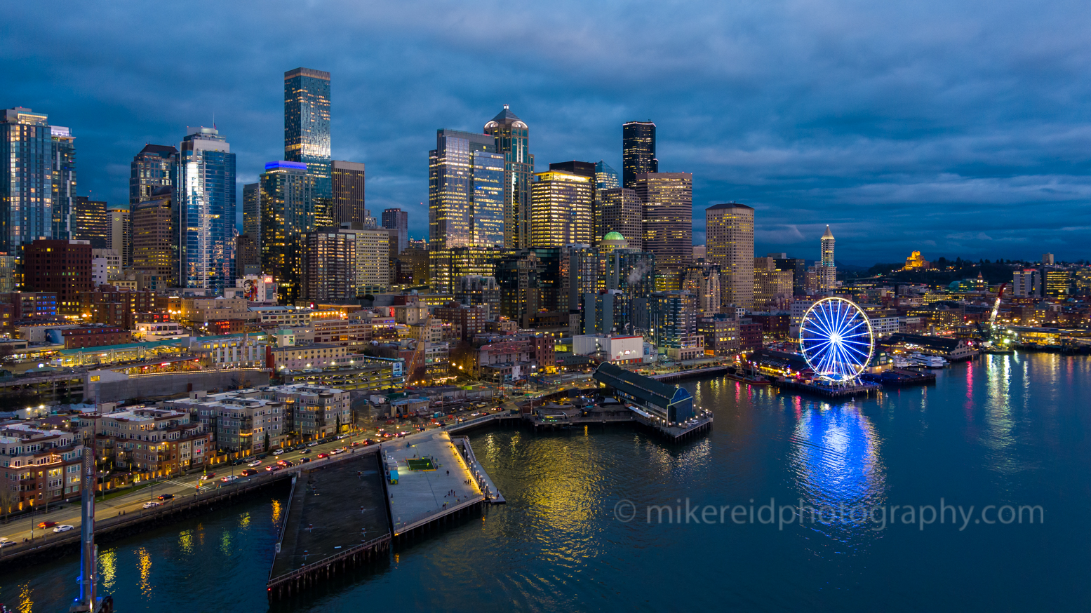
[[[935,386],[842,404],[728,380],[685,386],[716,412],[716,429],[684,445],[625,426],[473,434],[506,506],[274,611],[1091,604],[1091,360],[987,356],[942,371]],[[120,612],[267,610],[283,496],[104,546],[103,591]],[[828,513],[858,509],[858,519],[864,508],[890,518],[898,505],[900,520],[907,506],[916,515],[940,498],[974,512],[954,522],[959,512],[947,512],[944,524],[923,530],[916,517],[885,529],[870,520],[760,524],[758,507],[770,497],[778,515],[800,497]],[[681,506],[684,521],[686,498],[715,513],[697,512],[690,524],[658,524],[655,515],[647,522],[647,505]],[[631,521],[615,517],[615,508],[628,517],[622,501],[637,512]],[[997,507],[990,514],[1041,505],[1045,522],[1031,525],[1026,513],[1021,524],[975,521],[986,505]],[[741,524],[732,521],[736,508]],[[27,613],[67,610],[76,567],[73,556],[8,572],[0,602]]]

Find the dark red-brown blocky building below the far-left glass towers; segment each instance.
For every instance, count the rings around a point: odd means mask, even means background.
[[[56,293],[60,314],[79,314],[77,293],[92,289],[88,241],[38,239],[24,248],[23,264],[26,289]]]

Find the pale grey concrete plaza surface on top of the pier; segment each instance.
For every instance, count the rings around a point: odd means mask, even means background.
[[[435,470],[409,469],[406,460],[422,457],[431,457]],[[384,443],[383,461],[391,459],[398,465],[398,483],[387,486],[395,532],[425,517],[443,515],[467,501],[482,498],[472,472],[446,432],[420,433]]]

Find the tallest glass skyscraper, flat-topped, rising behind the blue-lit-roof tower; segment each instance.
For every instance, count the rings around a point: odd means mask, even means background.
[[[284,159],[305,164],[314,177],[314,197],[331,197],[328,72],[297,68],[284,73]]]

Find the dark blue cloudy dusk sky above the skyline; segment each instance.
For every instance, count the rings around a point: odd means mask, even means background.
[[[0,23],[0,105],[79,146],[81,194],[128,201],[129,163],[215,122],[241,184],[283,157],[283,75],[333,73],[333,154],[368,165],[373,214],[428,233],[435,130],[505,103],[540,169],[604,159],[658,125],[661,171],[704,208],[757,209],[758,254],[1091,257],[1091,4],[36,2]],[[241,213],[240,213],[241,215]]]

